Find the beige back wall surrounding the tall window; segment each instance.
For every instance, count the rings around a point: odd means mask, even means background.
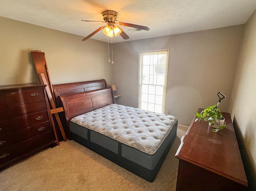
[[[114,44],[114,84],[120,104],[138,106],[138,52],[170,49],[166,109],[190,125],[198,107],[228,111],[244,25]],[[173,49],[173,50],[172,50]]]

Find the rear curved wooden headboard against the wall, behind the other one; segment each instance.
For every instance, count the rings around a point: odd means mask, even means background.
[[[58,96],[69,96],[72,94],[78,94],[81,92],[88,92],[91,90],[98,90],[107,87],[107,82],[104,79],[52,85],[54,96],[56,99]],[[56,101],[56,105],[60,107],[60,103],[58,103],[58,101]]]

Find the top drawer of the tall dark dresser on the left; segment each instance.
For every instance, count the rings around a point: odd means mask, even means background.
[[[0,107],[22,104],[39,99],[44,99],[44,90],[42,88],[4,92],[0,93]]]

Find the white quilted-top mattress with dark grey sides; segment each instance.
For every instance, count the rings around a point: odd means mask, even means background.
[[[74,117],[70,131],[147,169],[154,169],[176,135],[172,115],[111,104]]]

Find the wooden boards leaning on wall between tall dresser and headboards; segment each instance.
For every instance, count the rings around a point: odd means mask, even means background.
[[[50,109],[51,115],[50,115],[50,120],[52,122],[52,126],[54,127],[54,135],[56,137],[56,141],[58,144],[58,137],[57,137],[57,133],[56,133],[56,127],[54,124],[54,120],[53,120],[53,114],[54,117],[56,118],[56,121],[58,123],[60,132],[62,134],[63,140],[66,141],[66,135],[64,133],[64,129],[62,127],[62,124],[60,122],[60,117],[58,115],[59,112],[63,111],[62,107],[56,108],[55,105],[55,97],[53,94],[53,88],[52,88],[52,84],[51,84],[51,80],[50,80],[50,75],[48,72],[48,67],[47,67],[47,63],[46,63],[46,59],[45,59],[45,55],[44,52],[41,52],[40,50],[34,50],[31,51],[31,55],[34,61],[34,65],[36,67],[36,72],[38,74],[39,80],[41,84],[45,84],[46,86],[46,94],[48,97],[48,101],[49,101],[49,105],[52,107],[52,109]]]

